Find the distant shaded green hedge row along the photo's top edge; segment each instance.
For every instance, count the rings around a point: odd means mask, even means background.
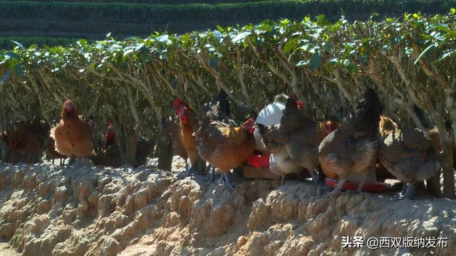
[[[443,13],[456,0],[303,0],[264,1],[240,4],[102,4],[1,1],[0,18],[46,19],[48,21],[112,21],[133,23],[183,23],[266,18],[303,18],[306,15],[397,14],[407,12]]]

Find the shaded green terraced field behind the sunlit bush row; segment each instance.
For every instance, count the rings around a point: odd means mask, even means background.
[[[397,16],[404,12],[445,13],[456,0],[26,0],[0,1],[0,48],[14,46],[11,39],[55,45],[68,38],[123,39],[147,36],[154,31],[185,33],[235,26],[265,19],[301,19],[326,14],[328,19],[345,14],[349,20],[364,19],[373,12]]]

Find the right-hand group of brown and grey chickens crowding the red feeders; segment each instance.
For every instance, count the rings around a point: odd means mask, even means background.
[[[363,98],[341,123],[334,120],[315,121],[289,98],[280,124],[266,126],[247,119],[240,127],[218,121],[212,111],[197,114],[184,102],[174,107],[180,117],[180,140],[185,159],[197,164],[207,161],[222,173],[221,181],[229,187],[227,174],[246,161],[255,150],[254,129],[271,152],[271,171],[281,175],[307,169],[314,182],[321,168],[324,176],[338,178],[332,195],[341,191],[349,174],[361,176],[358,192],[370,171],[380,164],[398,180],[408,183],[405,197],[413,198],[415,185],[436,176],[440,163],[432,141],[420,129],[403,128],[382,114],[383,108],[375,91],[366,89]],[[196,131],[196,132],[194,132]],[[187,172],[189,168],[187,167]]]

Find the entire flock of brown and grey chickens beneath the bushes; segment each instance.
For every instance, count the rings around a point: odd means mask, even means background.
[[[222,117],[217,111],[217,107],[222,107],[220,102],[211,110],[200,113],[180,99],[173,107],[180,125],[173,123],[170,132],[175,137],[175,153],[185,159],[186,176],[195,166],[206,161],[212,166],[212,174],[214,169],[218,169],[222,174],[220,182],[231,189],[234,187],[227,174],[254,154],[255,129],[259,129],[261,141],[271,153],[270,169],[281,175],[282,184],[286,174],[306,169],[314,182],[317,182],[317,174],[320,174],[319,178],[324,175],[338,179],[332,192],[335,194],[341,191],[349,174],[356,174],[362,177],[357,190],[361,192],[368,173],[381,164],[398,180],[409,184],[405,196],[413,198],[415,184],[436,176],[440,171],[427,132],[399,129],[392,119],[381,115],[380,100],[369,88],[341,123],[314,120],[304,114],[299,102],[291,97],[286,101],[280,124],[271,126],[256,123],[252,117],[237,126],[227,119],[226,113]],[[78,114],[71,100],[64,103],[61,119],[52,129],[42,120],[18,121],[1,134],[1,139],[11,149],[11,162],[33,163],[46,149],[49,159],[62,161],[67,156],[71,159],[90,156],[95,162],[105,159],[113,166],[120,166],[112,124],[108,127],[103,154],[94,156],[92,123]],[[144,162],[154,147],[152,139],[138,141],[137,165]],[[119,164],[112,164],[113,159],[118,159]],[[187,159],[190,159],[190,165]]]

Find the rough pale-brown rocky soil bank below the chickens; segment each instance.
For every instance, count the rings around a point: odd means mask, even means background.
[[[152,163],[153,164],[153,163]],[[306,182],[234,191],[173,170],[0,164],[0,255],[454,255],[456,201]],[[444,237],[447,248],[342,248],[342,236]],[[8,242],[8,244],[6,244]]]

